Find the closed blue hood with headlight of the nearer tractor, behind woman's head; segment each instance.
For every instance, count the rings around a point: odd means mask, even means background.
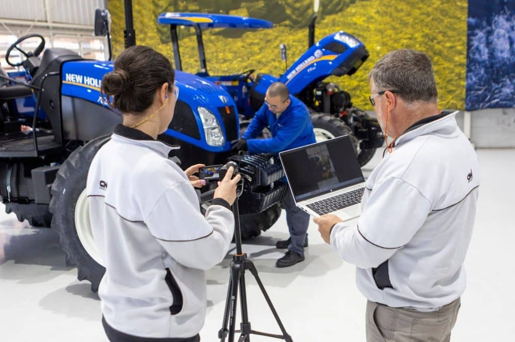
[[[62,67],[62,95],[80,98],[109,108],[100,95],[104,74],[113,70],[113,62],[71,61]],[[232,97],[220,86],[202,77],[176,71],[177,105],[169,129],[164,133],[180,141],[211,152],[228,151],[231,141],[238,139],[238,112]],[[216,121],[212,121],[213,115]],[[207,120],[207,121],[206,121]],[[212,130],[204,127],[208,123]],[[213,145],[209,134],[224,135],[223,144]],[[220,140],[218,140],[219,142]]]

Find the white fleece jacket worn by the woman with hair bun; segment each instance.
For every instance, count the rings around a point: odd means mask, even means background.
[[[191,337],[204,323],[204,270],[227,254],[234,217],[222,205],[204,217],[186,175],[167,159],[171,147],[133,131],[117,126],[88,175],[93,236],[106,267],[102,314],[126,334]]]

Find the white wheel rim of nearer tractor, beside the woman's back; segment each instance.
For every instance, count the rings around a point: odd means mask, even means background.
[[[100,257],[100,251],[93,238],[90,222],[90,203],[85,189],[80,194],[77,204],[75,204],[75,229],[82,247],[84,247],[90,257],[100,265],[104,265]]]

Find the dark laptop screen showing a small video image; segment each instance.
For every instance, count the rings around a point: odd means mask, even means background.
[[[365,181],[348,135],[279,155],[296,202]]]

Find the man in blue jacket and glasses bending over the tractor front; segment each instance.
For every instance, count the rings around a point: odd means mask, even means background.
[[[265,127],[272,133],[271,138],[255,139]],[[248,150],[250,153],[279,153],[312,143],[315,143],[315,134],[306,106],[289,94],[284,83],[274,82],[266,91],[265,103],[255,114],[242,138],[235,142],[233,149]],[[290,238],[277,242],[277,248],[287,248],[288,251],[277,261],[276,266],[288,267],[304,261],[310,215],[295,206],[289,191],[282,205],[286,210]]]

